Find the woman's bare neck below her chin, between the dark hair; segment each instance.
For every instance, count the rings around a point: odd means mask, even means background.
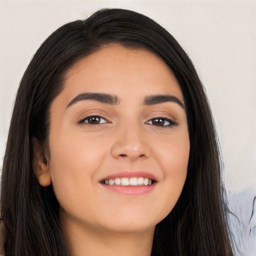
[[[116,232],[81,223],[61,221],[61,229],[73,256],[150,256],[154,227],[139,232]]]

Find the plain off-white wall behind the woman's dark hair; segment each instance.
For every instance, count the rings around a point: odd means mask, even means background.
[[[255,0],[1,0],[0,168],[15,92],[31,56],[57,27],[84,19],[102,7],[144,13],[177,39],[192,59],[209,98],[226,188],[238,200],[240,194],[242,198],[254,196]],[[252,199],[246,204],[248,212]]]

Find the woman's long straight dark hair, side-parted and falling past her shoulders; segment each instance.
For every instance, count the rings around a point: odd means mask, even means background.
[[[6,256],[70,255],[52,186],[40,186],[34,175],[31,139],[47,141],[49,107],[63,87],[66,71],[110,43],[160,56],[175,75],[185,102],[190,139],[187,177],[176,205],[156,225],[151,255],[232,255],[214,122],[191,60],[152,19],[130,10],[101,9],[54,31],[36,51],[20,82],[1,180]]]

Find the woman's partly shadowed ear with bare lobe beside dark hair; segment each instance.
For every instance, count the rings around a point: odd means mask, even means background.
[[[41,186],[48,186],[51,183],[49,171],[49,155],[37,138],[32,138],[33,148],[33,171]]]

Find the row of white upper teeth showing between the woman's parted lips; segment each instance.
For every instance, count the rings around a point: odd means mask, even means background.
[[[117,177],[101,180],[100,183],[106,185],[123,185],[123,186],[138,186],[138,185],[151,185],[155,180],[144,177]]]

